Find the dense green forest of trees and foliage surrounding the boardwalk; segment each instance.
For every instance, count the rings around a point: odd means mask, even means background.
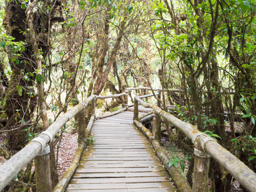
[[[166,111],[177,106],[177,116],[256,170],[255,1],[0,2],[0,156],[9,159],[92,93],[160,82],[180,90],[163,93]],[[185,145],[170,127],[171,140]],[[212,191],[230,190],[232,177],[214,161],[210,178]],[[31,164],[19,181],[33,182]]]

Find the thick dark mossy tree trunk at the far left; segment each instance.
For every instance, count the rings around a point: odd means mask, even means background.
[[[17,3],[16,3],[17,2]],[[21,8],[21,1],[8,1],[5,8],[5,15],[3,25],[6,28],[6,34],[13,36],[15,42],[28,42],[24,52],[16,52],[21,54],[20,57],[13,59],[13,50],[7,49],[9,64],[12,70],[8,88],[4,93],[4,107],[8,123],[6,129],[12,130],[20,125],[24,125],[31,120],[31,115],[35,109],[36,97],[29,94],[33,90],[33,76],[30,73],[35,72],[35,63],[30,60],[31,58],[31,45],[25,33],[27,26],[24,24],[26,21],[25,10]],[[15,62],[13,62],[15,60]],[[24,75],[28,74],[29,81],[24,79]],[[18,92],[19,90],[19,92]],[[22,92],[20,92],[22,91]],[[10,150],[20,150],[28,142],[26,138],[27,126],[22,126],[21,129],[10,131],[7,134],[7,147]]]

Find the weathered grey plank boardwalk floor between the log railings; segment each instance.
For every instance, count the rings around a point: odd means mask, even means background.
[[[132,127],[133,112],[96,120],[66,191],[177,191],[147,138]]]

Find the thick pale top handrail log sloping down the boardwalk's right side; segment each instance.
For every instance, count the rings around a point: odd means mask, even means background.
[[[223,148],[220,144],[209,138],[206,134],[201,133],[196,129],[194,125],[182,122],[179,118],[163,111],[161,108],[154,104],[143,102],[140,97],[134,97],[135,100],[140,102],[145,108],[152,108],[154,113],[162,116],[167,122],[175,125],[191,140],[197,139],[201,147],[205,152],[211,155],[219,164],[225,167],[225,169],[236,178],[241,185],[248,191],[256,191],[256,174],[246,166],[242,161],[237,159],[236,156],[231,154],[228,150]]]

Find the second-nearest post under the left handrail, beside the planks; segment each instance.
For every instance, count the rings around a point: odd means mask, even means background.
[[[86,118],[85,109],[83,108],[78,114],[78,143],[86,143]]]

